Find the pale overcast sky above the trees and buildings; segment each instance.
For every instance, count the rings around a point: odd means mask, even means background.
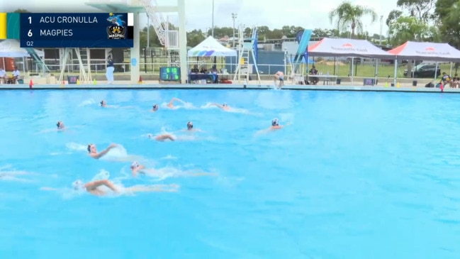
[[[86,0],[98,1],[98,0]],[[9,12],[15,9],[28,9],[33,12],[85,12],[97,11],[97,9],[85,6],[85,0],[65,0],[64,3],[56,4],[56,0],[5,0],[0,1],[0,10]],[[123,1],[123,0],[99,0],[99,1]],[[396,0],[388,1],[364,1],[351,0],[353,4],[367,5],[373,8],[379,16],[383,15],[386,20],[388,13],[396,9]],[[157,0],[159,5],[176,4],[176,0]],[[246,26],[269,26],[269,28],[281,28],[284,25],[302,26],[303,28],[332,28],[327,13],[339,5],[342,0],[214,0],[214,24],[215,26],[232,27],[232,14],[237,13],[236,24]],[[187,30],[211,28],[213,0],[186,0]],[[32,7],[34,6],[34,7]],[[102,11],[101,11],[102,12]],[[145,17],[145,15],[143,15]],[[142,23],[147,23],[142,18]],[[370,23],[370,19],[364,19],[369,33],[379,33],[380,22]],[[142,26],[143,27],[143,26]],[[386,34],[386,25],[383,25],[383,34]]]

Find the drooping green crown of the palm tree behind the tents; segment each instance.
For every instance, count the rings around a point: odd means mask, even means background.
[[[339,31],[347,31],[348,26],[352,29],[352,37],[356,33],[363,31],[363,23],[361,18],[364,16],[371,16],[371,22],[377,21],[377,13],[366,6],[353,5],[349,1],[344,1],[329,12],[330,23],[335,20],[335,25]]]

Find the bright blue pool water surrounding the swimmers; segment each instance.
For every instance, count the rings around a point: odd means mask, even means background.
[[[0,258],[458,258],[459,116],[447,94],[2,91]],[[291,125],[258,132],[273,118]],[[164,131],[181,140],[147,138]],[[72,190],[95,177],[180,188]]]

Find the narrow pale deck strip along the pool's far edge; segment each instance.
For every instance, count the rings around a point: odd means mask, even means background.
[[[31,88],[28,84],[0,84],[0,90],[75,90],[75,89],[254,89],[254,90],[267,90],[274,89],[274,85],[269,81],[262,82],[262,84],[149,84],[144,82],[142,84],[130,84],[129,82],[116,82],[115,84],[104,84],[98,82],[97,84],[37,84]],[[459,94],[458,88],[445,88],[441,91],[439,88],[427,87],[382,87],[382,86],[357,86],[357,85],[284,85],[283,90],[307,90],[307,91],[354,91],[354,92],[423,92],[423,93],[449,93]]]

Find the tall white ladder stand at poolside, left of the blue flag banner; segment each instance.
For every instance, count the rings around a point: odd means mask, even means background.
[[[249,60],[252,57],[254,63],[254,69],[257,74],[257,84],[260,84],[259,67],[257,67],[257,27],[252,29],[252,35],[250,38],[245,38],[244,28],[240,26],[238,29],[238,65],[235,70],[235,77],[233,81],[240,83],[241,78],[244,77],[249,80],[249,74],[252,74],[252,64]]]

